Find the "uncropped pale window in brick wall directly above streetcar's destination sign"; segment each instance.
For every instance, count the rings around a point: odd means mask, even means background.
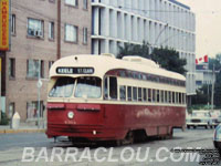
[[[77,42],[77,27],[65,24],[65,41],[67,42]]]

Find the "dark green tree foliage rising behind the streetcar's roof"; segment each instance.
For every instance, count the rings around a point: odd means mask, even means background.
[[[139,55],[146,59],[151,59],[158,63],[161,68],[169,71],[178,72],[185,74],[186,60],[179,59],[179,52],[173,49],[160,48],[154,49],[152,53],[149,53],[149,43],[143,42],[143,45],[138,44],[125,44],[125,46],[119,46],[118,59],[126,55]]]

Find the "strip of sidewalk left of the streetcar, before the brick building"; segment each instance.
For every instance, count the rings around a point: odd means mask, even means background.
[[[0,125],[0,134],[12,134],[12,133],[45,133],[45,126],[30,125],[28,123],[21,123],[18,129],[10,128],[10,125]]]

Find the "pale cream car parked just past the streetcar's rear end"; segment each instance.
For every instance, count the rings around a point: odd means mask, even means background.
[[[217,125],[215,118],[210,114],[210,111],[192,111],[192,114],[187,116],[187,127],[203,126],[206,128],[213,128]]]

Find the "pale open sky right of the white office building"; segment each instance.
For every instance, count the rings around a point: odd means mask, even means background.
[[[221,0],[177,0],[196,13],[196,58],[221,53]]]

